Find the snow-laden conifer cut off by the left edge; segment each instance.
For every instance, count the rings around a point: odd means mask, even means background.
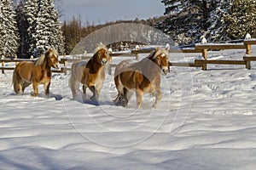
[[[0,56],[13,57],[17,52],[18,36],[15,11],[11,0],[0,1]]]

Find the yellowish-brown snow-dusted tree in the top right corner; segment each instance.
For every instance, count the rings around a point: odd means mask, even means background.
[[[224,16],[225,31],[231,38],[244,38],[256,31],[256,1],[234,0]]]

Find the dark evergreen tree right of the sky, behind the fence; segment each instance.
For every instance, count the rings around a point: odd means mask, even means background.
[[[176,42],[177,37],[183,37],[186,42],[195,42],[207,31],[213,0],[162,0],[166,5],[166,20],[159,23],[157,28],[169,34]],[[189,41],[190,38],[190,41]]]

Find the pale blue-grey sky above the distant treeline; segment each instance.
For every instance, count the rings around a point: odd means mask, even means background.
[[[165,6],[160,0],[61,0],[61,20],[81,15],[82,21],[103,24],[114,20],[148,19],[160,16]]]

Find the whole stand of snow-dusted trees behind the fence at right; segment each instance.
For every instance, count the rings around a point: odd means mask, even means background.
[[[256,33],[255,0],[162,0],[166,20],[157,28],[169,34],[178,44],[226,41]]]

